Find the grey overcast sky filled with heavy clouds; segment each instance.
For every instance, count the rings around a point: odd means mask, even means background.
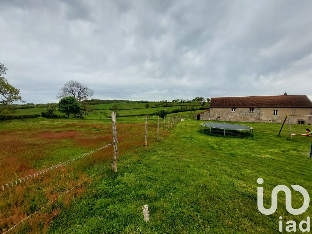
[[[0,63],[32,103],[308,95],[311,1],[0,0]]]

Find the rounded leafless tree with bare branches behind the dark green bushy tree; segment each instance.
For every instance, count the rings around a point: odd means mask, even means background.
[[[93,89],[90,89],[89,85],[82,84],[75,80],[69,80],[61,88],[61,92],[56,95],[57,99],[63,97],[74,97],[77,102],[88,100],[94,95]]]

